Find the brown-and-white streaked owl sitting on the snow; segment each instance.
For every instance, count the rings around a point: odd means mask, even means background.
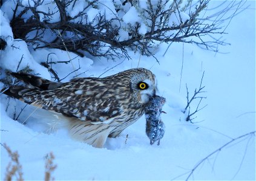
[[[74,78],[56,83],[24,73],[11,73],[27,86],[10,87],[5,94],[68,119],[70,134],[94,147],[116,137],[143,115],[156,95],[155,75],[144,68],[105,78]]]

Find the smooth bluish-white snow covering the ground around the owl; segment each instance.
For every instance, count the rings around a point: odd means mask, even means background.
[[[223,35],[230,46],[220,48],[227,54],[205,51],[195,45],[173,43],[163,56],[168,45],[160,45],[156,57],[141,57],[139,66],[156,74],[159,95],[166,98],[162,114],[165,122],[165,136],[159,146],[150,145],[145,134],[145,117],[128,127],[119,138],[109,138],[105,148],[94,148],[74,141],[67,130],[52,132],[45,125],[53,117],[45,110],[27,106],[21,113],[22,125],[11,117],[25,104],[1,95],[1,143],[11,150],[18,150],[25,180],[44,178],[45,155],[52,152],[57,168],[53,173],[56,180],[185,180],[192,169],[208,154],[222,147],[232,139],[255,131],[255,2],[235,16]],[[246,7],[246,5],[245,5]],[[7,14],[8,15],[8,14]],[[11,34],[8,20],[1,11],[1,31]],[[11,41],[11,40],[10,40]],[[28,50],[24,42],[16,43],[13,49],[7,46],[1,52],[1,68],[16,71],[17,63],[24,55],[21,66],[31,65],[42,77],[50,78],[47,69],[39,65],[47,59],[68,60],[65,51],[41,49]],[[74,54],[70,53],[71,58]],[[139,54],[132,54],[132,60],[113,62],[105,59],[76,58],[73,66],[82,67],[77,74],[101,77],[116,74],[129,68],[136,68]],[[182,58],[183,57],[183,58]],[[79,60],[78,60],[79,59]],[[183,74],[180,86],[180,71]],[[79,62],[78,62],[79,61]],[[71,65],[59,64],[59,77],[73,71]],[[189,96],[202,85],[207,92],[202,96],[200,110],[192,124],[185,121],[181,112],[186,106],[186,84]],[[68,81],[67,77],[63,81]],[[194,103],[191,109],[195,109]],[[191,110],[192,111],[192,110]],[[33,114],[31,116],[31,113]],[[51,132],[47,134],[47,132]],[[126,138],[128,135],[128,138]],[[7,151],[1,147],[1,180],[10,162]],[[189,179],[194,180],[255,180],[255,136],[246,136],[208,157]]]

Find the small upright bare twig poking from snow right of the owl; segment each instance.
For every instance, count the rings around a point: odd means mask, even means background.
[[[203,75],[205,75],[205,71],[203,72]],[[200,81],[199,89],[195,88],[194,95],[191,98],[189,98],[188,86],[186,84],[186,101],[187,101],[187,103],[186,103],[185,109],[182,111],[183,113],[186,113],[187,110],[188,110],[188,116],[186,116],[186,121],[192,122],[192,120],[197,118],[197,117],[196,116],[191,117],[191,116],[194,116],[195,113],[199,112],[200,110],[202,110],[203,108],[205,108],[207,106],[207,104],[206,104],[205,106],[199,108],[202,100],[207,98],[207,97],[201,96],[202,93],[206,92],[206,91],[203,90],[205,88],[205,86],[202,86],[203,75],[202,75],[202,78],[201,78],[201,81]],[[192,103],[192,101],[197,100],[197,99],[199,99],[199,103],[197,104],[197,107],[194,110],[194,112],[191,112],[191,109],[190,109],[191,103]]]

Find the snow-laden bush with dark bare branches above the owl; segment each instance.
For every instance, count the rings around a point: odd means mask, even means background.
[[[223,33],[222,22],[234,14],[225,19],[223,15],[237,4],[205,16],[209,1],[6,0],[1,10],[10,21],[13,38],[33,49],[119,59],[130,57],[128,49],[154,56],[162,42],[197,43],[218,51],[218,45],[225,43],[213,35]]]

